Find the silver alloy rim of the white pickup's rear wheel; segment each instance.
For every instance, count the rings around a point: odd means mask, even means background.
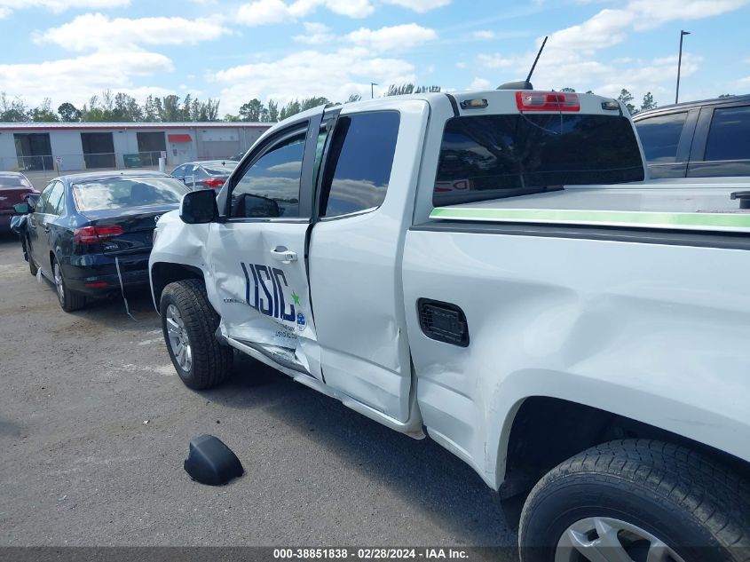
[[[557,542],[555,562],[684,562],[645,529],[606,517],[576,521]]]

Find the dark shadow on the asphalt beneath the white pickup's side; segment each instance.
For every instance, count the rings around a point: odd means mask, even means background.
[[[235,358],[230,381],[201,395],[229,408],[263,408],[280,423],[314,439],[328,455],[393,488],[459,545],[517,543],[493,491],[468,464],[431,439],[416,440],[391,431],[245,356]],[[493,557],[506,553],[516,559],[510,549]]]

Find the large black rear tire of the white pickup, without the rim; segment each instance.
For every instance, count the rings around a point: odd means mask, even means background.
[[[564,532],[587,518],[637,526],[685,562],[750,559],[748,483],[686,447],[612,441],[559,464],[526,500],[518,534],[521,559],[553,562]],[[628,532],[616,536],[631,558],[643,556],[636,543],[628,544]],[[587,540],[598,540],[598,534]]]

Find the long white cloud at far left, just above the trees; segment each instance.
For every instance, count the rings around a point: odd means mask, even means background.
[[[38,64],[0,65],[0,91],[20,96],[36,105],[43,98],[81,106],[91,95],[111,89],[134,97],[160,92],[159,88],[138,88],[133,78],[158,75],[174,69],[172,61],[162,54],[138,49],[99,51],[75,59],[48,60]],[[163,93],[162,93],[163,92]]]

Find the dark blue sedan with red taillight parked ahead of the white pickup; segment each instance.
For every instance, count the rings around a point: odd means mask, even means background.
[[[28,209],[31,273],[41,270],[54,282],[67,312],[82,308],[87,297],[146,285],[156,221],[178,209],[188,191],[177,179],[146,170],[53,179]]]

